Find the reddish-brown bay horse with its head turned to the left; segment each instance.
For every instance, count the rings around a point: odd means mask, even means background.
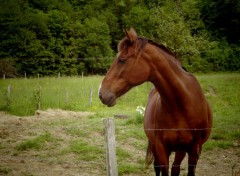
[[[154,161],[156,176],[169,175],[169,156],[175,152],[171,175],[180,174],[188,154],[188,176],[195,175],[202,145],[212,128],[212,111],[197,79],[181,66],[164,45],[138,37],[131,28],[118,44],[118,54],[99,89],[102,103],[111,107],[132,87],[154,84],[144,115],[148,138],[146,163]]]

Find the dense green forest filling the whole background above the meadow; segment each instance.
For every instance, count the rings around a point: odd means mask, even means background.
[[[191,72],[240,70],[239,0],[0,0],[0,75],[103,74],[123,29]]]

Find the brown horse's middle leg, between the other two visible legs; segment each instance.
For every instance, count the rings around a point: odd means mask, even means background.
[[[186,155],[185,151],[176,151],[174,162],[172,165],[171,176],[179,176],[180,165],[185,155]]]

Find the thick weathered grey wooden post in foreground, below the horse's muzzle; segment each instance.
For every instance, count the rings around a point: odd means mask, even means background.
[[[106,139],[106,163],[107,176],[118,176],[116,145],[115,145],[115,127],[111,118],[104,119],[105,139]]]

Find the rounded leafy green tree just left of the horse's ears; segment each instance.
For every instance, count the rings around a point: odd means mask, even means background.
[[[113,56],[109,27],[104,21],[97,18],[87,18],[81,30],[79,42],[79,57],[84,58],[84,63],[90,72],[94,72],[96,64],[101,58]]]

